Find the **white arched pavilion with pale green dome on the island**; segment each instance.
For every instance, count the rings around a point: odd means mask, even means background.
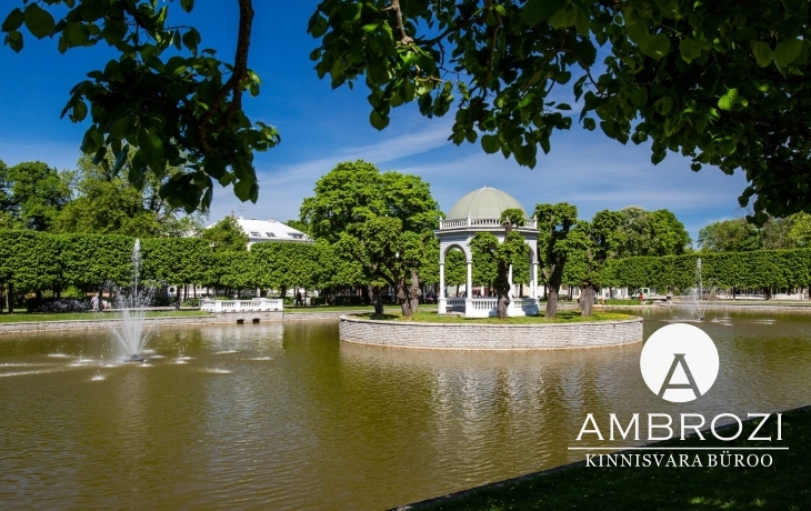
[[[504,241],[505,230],[501,224],[501,213],[507,209],[520,209],[521,203],[509,193],[494,188],[483,187],[473,190],[453,204],[447,219],[439,221],[439,313],[464,312],[468,318],[488,318],[497,315],[495,297],[473,297],[473,254],[470,241],[477,232],[491,232],[500,242]],[[539,312],[538,300],[538,222],[534,218],[525,218],[524,226],[517,229],[530,247],[530,287],[529,297],[513,297],[512,268],[510,268],[510,305],[508,315],[533,315]],[[444,260],[450,250],[464,252],[468,263],[468,281],[464,297],[445,297]]]

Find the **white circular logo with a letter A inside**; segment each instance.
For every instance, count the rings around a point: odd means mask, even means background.
[[[718,350],[698,327],[672,323],[648,339],[639,368],[648,388],[660,398],[684,403],[707,393],[718,377]]]

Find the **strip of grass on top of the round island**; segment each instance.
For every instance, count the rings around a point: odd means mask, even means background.
[[[389,320],[389,321],[421,321],[427,323],[479,323],[479,324],[541,324],[541,323],[579,323],[585,321],[617,321],[637,318],[635,315],[618,314],[615,312],[594,312],[589,317],[580,315],[580,311],[558,311],[553,319],[547,319],[543,315],[527,315],[517,318],[507,318],[500,320],[498,318],[464,318],[457,314],[438,314],[435,310],[418,311],[413,318],[403,318],[399,311],[393,308],[387,308],[391,312],[382,315],[373,313],[354,314],[364,319]]]

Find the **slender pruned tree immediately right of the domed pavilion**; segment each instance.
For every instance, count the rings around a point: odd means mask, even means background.
[[[554,318],[558,312],[558,295],[563,271],[572,248],[567,240],[578,220],[578,208],[567,202],[537,204],[535,218],[538,219],[538,263],[549,290],[545,315]]]

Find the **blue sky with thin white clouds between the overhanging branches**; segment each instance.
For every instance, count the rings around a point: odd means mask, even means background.
[[[381,170],[420,174],[443,210],[470,190],[489,186],[514,196],[528,211],[538,202],[560,201],[575,204],[582,218],[627,206],[667,208],[693,239],[707,223],[741,214],[741,172],[730,177],[707,167],[692,172],[689,160],[679,154],[654,167],[648,147],[621,146],[578,126],[553,136],[552,151],[539,157],[535,169],[485,154],[478,143],[457,147],[447,141],[453,111],[442,119],[424,119],[415,104],[408,104],[394,110],[389,127],[379,132],[369,124],[363,87],[333,91],[312,70],[309,53],[316,43],[307,34],[307,21],[317,2],[254,3],[250,67],[263,87],[258,98],[247,100],[246,109],[252,120],[274,124],[282,143],[257,154],[259,201],[241,203],[230,189],[218,188],[212,220],[231,211],[248,218],[296,218],[320,176],[339,161],[358,158]],[[233,52],[237,19],[236,1],[198,0],[190,21],[202,34],[202,47],[217,49],[226,59]],[[0,48],[0,159],[73,168],[87,124],[60,120],[59,113],[73,84],[103,67],[110,56],[106,48],[61,56],[56,41],[30,36],[19,54]]]

